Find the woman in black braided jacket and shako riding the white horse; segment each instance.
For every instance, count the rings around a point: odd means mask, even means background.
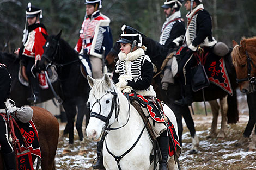
[[[135,90],[138,95],[155,101],[156,93],[151,86],[153,79],[153,64],[149,56],[145,55],[147,47],[143,46],[145,35],[129,26],[122,27],[123,34],[117,42],[121,45],[119,60],[113,73],[115,85],[124,93]],[[168,137],[167,131],[163,131],[157,137],[162,154],[160,169],[167,169]]]

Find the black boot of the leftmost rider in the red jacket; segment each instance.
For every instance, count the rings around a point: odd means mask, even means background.
[[[40,103],[41,99],[39,96],[39,82],[37,78],[32,77],[29,78],[29,83],[31,86],[31,97],[27,98],[27,101],[31,104]]]

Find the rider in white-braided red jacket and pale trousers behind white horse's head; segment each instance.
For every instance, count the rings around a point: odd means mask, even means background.
[[[88,58],[94,78],[102,78],[102,59],[113,46],[110,19],[100,13],[102,0],[86,0],[86,16],[75,51]],[[105,53],[105,54],[104,54]]]

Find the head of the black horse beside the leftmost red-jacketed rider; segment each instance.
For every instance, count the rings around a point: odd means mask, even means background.
[[[40,70],[46,70],[47,66],[56,60],[56,54],[59,53],[59,40],[62,35],[60,30],[59,34],[47,37],[44,45],[44,54],[39,62]]]

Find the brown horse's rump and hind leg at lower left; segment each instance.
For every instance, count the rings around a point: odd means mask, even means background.
[[[41,169],[55,169],[55,154],[58,146],[59,123],[50,112],[44,108],[31,107],[34,110],[33,122],[39,135],[41,149]],[[33,162],[36,157],[32,155]],[[2,155],[0,155],[0,169],[4,169]]]

